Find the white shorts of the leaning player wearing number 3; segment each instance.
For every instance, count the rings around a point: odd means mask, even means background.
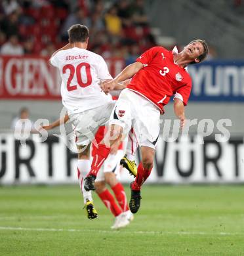
[[[133,127],[139,145],[155,149],[160,131],[160,111],[150,100],[124,89],[110,116],[112,124],[123,127],[124,135],[128,135]]]

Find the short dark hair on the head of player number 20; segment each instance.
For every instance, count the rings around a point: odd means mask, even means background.
[[[89,29],[81,24],[75,24],[70,27],[68,30],[68,35],[70,39],[70,43],[75,42],[82,42],[84,43],[87,41],[87,38],[89,37]]]

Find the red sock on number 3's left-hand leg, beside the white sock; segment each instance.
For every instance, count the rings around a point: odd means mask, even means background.
[[[102,163],[104,163],[104,160],[108,158],[109,154],[110,148],[106,148],[104,144],[98,144],[98,149],[92,160],[91,171],[88,173],[88,175],[96,176],[98,174],[100,167],[102,166]]]

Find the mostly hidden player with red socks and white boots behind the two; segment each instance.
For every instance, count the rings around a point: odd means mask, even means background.
[[[53,123],[49,125],[42,126],[43,129],[49,131],[58,127],[64,123],[67,123],[69,120],[68,114],[57,119]],[[99,143],[104,138],[105,127],[99,127],[98,131],[95,135],[96,143]],[[131,136],[131,135],[130,135]],[[134,139],[134,138],[133,138]],[[131,139],[132,141],[132,139]],[[135,142],[136,143],[136,142]],[[131,145],[130,148],[136,147],[136,144]],[[96,154],[97,148],[92,146],[92,156]],[[117,180],[117,176],[119,176],[120,165],[119,161],[123,156],[123,144],[121,144],[117,150],[117,152],[113,152],[110,154],[106,161],[102,164],[100,171],[98,172],[98,176],[95,182],[96,194],[98,194],[99,198],[102,200],[104,205],[110,210],[110,212],[115,217],[115,222],[112,229],[122,228],[127,226],[130,221],[134,219],[131,211],[129,210],[129,205],[127,203],[127,196],[125,194],[125,189],[123,185]],[[80,177],[80,171],[78,171],[78,177]],[[79,182],[81,187],[81,193],[84,194],[83,188],[81,186],[81,181]],[[117,205],[114,196],[110,193],[110,190],[106,188],[106,184],[112,188],[113,193],[115,194],[115,198],[117,200]],[[85,191],[86,192],[86,191]],[[86,208],[87,209],[87,208]],[[87,213],[89,209],[87,209]],[[89,216],[89,213],[88,213]]]

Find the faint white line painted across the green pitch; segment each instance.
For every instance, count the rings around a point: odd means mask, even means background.
[[[22,228],[22,227],[14,227],[14,226],[0,226],[0,230],[20,230],[20,231],[47,231],[47,232],[98,232],[98,233],[115,233],[115,230],[91,230],[91,229],[73,229],[73,228]],[[159,234],[159,235],[167,235],[167,234],[178,234],[178,235],[207,235],[207,236],[243,236],[244,233],[241,232],[168,232],[168,231],[127,231],[123,230],[123,233],[128,234]]]

